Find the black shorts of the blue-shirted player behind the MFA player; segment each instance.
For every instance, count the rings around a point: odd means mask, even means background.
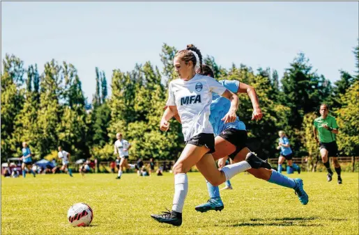
[[[229,128],[222,131],[218,136],[224,138],[232,145],[236,146],[236,151],[229,154],[229,157],[234,160],[234,157],[240,152],[240,150],[247,147],[247,131]]]

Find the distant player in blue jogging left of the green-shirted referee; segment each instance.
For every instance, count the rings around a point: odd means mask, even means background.
[[[288,165],[300,174],[300,167],[291,160],[293,158],[293,152],[291,151],[291,145],[289,139],[284,131],[278,132],[280,139],[278,140],[277,149],[280,149],[280,158],[278,159],[278,172],[282,173],[282,163],[287,159]]]

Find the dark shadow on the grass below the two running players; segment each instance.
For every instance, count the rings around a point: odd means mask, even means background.
[[[243,221],[234,225],[218,225],[223,227],[245,227],[245,226],[300,226],[300,227],[322,227],[321,224],[313,223],[317,217],[284,217],[284,218],[251,218],[249,222]],[[274,221],[273,221],[274,220]],[[340,219],[339,219],[340,220]]]

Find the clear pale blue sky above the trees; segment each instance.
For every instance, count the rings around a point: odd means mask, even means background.
[[[330,81],[356,70],[358,2],[1,2],[1,58],[26,67],[54,58],[77,68],[85,95],[95,67],[129,71],[150,60],[162,69],[165,42],[195,44],[222,67],[270,67],[282,76],[303,51]]]

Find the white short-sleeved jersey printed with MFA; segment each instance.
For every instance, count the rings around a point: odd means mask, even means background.
[[[199,133],[213,133],[209,122],[212,92],[222,95],[225,90],[226,88],[211,76],[199,74],[189,81],[175,79],[169,83],[166,105],[177,106],[185,141]]]

